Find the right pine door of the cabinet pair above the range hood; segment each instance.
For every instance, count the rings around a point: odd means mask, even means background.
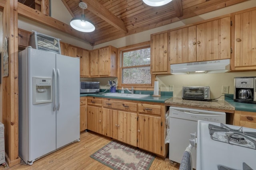
[[[230,17],[196,25],[197,61],[230,59]]]

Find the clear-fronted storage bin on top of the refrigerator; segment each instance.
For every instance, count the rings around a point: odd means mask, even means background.
[[[60,39],[38,33],[37,31],[30,35],[29,45],[33,49],[61,54]]]

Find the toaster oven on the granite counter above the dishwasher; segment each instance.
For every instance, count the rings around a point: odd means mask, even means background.
[[[210,101],[209,86],[183,86],[182,99]]]

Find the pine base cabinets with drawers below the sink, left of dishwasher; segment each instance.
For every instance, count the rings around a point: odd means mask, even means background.
[[[88,97],[87,129],[166,157],[165,112],[159,103]]]

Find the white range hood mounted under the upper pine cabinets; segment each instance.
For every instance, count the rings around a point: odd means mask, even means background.
[[[230,70],[230,59],[171,64],[171,74],[219,73]]]

